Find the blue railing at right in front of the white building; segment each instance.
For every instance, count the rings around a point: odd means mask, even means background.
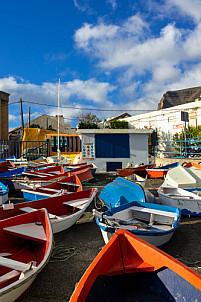
[[[201,157],[201,137],[187,138],[186,141],[151,141],[149,154],[166,158]]]

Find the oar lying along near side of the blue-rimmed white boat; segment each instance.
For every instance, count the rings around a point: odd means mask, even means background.
[[[101,221],[106,221],[107,223],[113,223],[114,225],[117,225],[117,227],[121,227],[121,225],[131,225],[135,226],[140,229],[148,230],[150,228],[149,225],[143,223],[143,225],[139,224],[138,222],[132,222],[132,221],[126,221],[126,220],[121,220],[121,219],[115,219],[113,217],[104,215],[103,213],[100,213],[96,209],[92,210],[93,216],[99,218]]]

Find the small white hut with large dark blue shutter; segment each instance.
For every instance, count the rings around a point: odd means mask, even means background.
[[[83,162],[93,162],[98,172],[148,164],[148,135],[152,130],[78,129]]]

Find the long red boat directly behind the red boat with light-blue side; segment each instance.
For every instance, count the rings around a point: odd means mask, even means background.
[[[77,175],[79,180],[84,182],[87,180],[90,180],[93,178],[93,175],[89,168],[77,168],[73,169],[73,171],[66,171],[64,173],[60,173],[57,175],[50,175],[50,176],[44,176],[44,177],[35,177],[29,179],[28,177],[20,178],[20,179],[13,179],[13,186],[16,191],[22,190],[22,189],[27,189],[35,187],[42,187],[46,186],[50,183],[53,183],[55,181],[60,181],[65,177],[69,177],[72,175]]]

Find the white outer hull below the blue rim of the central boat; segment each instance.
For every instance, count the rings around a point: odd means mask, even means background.
[[[121,229],[125,229],[125,230],[128,230],[128,231],[131,231],[129,230],[128,227],[121,227]],[[102,233],[102,236],[103,236],[103,240],[105,242],[105,244],[108,243],[108,241],[112,238],[112,236],[114,235],[113,232],[106,232],[104,231],[103,229],[101,229],[101,233]],[[168,234],[164,234],[164,235],[159,235],[159,236],[146,236],[146,235],[138,235],[138,234],[135,234],[135,232],[132,232],[134,235],[136,235],[137,237],[145,240],[146,242],[154,245],[154,246],[162,246],[162,245],[165,245],[173,236],[173,232],[172,233],[168,233]]]

